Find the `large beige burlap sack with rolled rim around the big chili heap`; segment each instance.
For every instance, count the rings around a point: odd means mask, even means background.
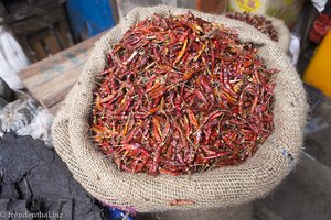
[[[95,198],[138,211],[228,207],[266,196],[298,162],[306,120],[306,96],[301,80],[285,53],[254,28],[226,19],[192,11],[196,16],[237,30],[243,41],[263,45],[259,55],[276,75],[275,131],[256,154],[238,166],[205,173],[149,176],[120,172],[90,142],[88,116],[92,110],[95,75],[105,66],[105,54],[138,20],[153,13],[185,13],[168,7],[137,8],[95,45],[78,82],[68,94],[53,127],[54,147],[73,176]],[[170,200],[190,199],[193,205],[170,206]],[[220,213],[221,215],[221,213]]]

